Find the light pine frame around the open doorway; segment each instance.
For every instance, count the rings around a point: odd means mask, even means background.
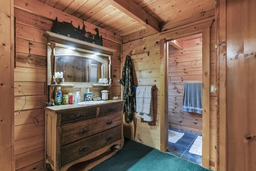
[[[202,82],[203,82],[203,114],[202,114],[202,166],[210,167],[210,26],[213,19],[190,24],[184,28],[169,30],[160,33],[160,150],[166,151],[168,147],[168,91],[167,91],[167,47],[166,40],[178,39],[202,33]]]

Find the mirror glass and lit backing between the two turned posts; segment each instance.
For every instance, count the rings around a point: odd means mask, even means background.
[[[90,53],[55,48],[56,73],[63,73],[65,82],[97,83],[101,78],[108,78],[108,58]]]

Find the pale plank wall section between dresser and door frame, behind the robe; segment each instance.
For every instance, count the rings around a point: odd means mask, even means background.
[[[149,41],[144,45],[137,43],[131,44],[131,47],[128,44],[123,45],[122,66],[124,66],[126,55],[132,55],[134,85],[156,85],[156,90],[153,91],[155,123],[154,125],[150,125],[147,122],[142,122],[140,118],[134,117],[134,121],[130,124],[124,122],[124,136],[160,149],[160,96],[158,91],[160,86],[160,44],[158,41]],[[149,55],[140,55],[144,52],[148,52]]]

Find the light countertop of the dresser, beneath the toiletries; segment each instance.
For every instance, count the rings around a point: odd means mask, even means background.
[[[90,108],[90,107],[95,107],[95,106],[102,106],[102,105],[108,105],[111,103],[118,103],[118,102],[124,102],[125,100],[102,100],[105,103],[101,104],[90,104],[90,105],[79,105],[79,104],[66,104],[66,105],[55,105],[55,106],[47,106],[45,107],[46,110],[50,110],[52,112],[62,112],[63,110],[82,110],[84,108]]]

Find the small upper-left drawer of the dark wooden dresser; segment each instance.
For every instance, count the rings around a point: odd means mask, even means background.
[[[97,108],[89,108],[85,110],[81,110],[78,112],[70,112],[67,114],[61,114],[61,124],[66,124],[70,122],[86,120],[89,118],[96,117]]]

